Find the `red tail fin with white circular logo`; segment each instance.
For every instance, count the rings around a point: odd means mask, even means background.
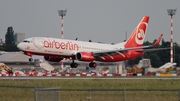
[[[148,27],[149,16],[144,16],[125,43],[125,48],[143,46]]]

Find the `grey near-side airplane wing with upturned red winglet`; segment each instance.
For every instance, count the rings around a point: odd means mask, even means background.
[[[103,56],[109,56],[112,57],[114,55],[122,55],[124,57],[124,53],[126,53],[128,50],[136,50],[137,52],[147,52],[147,51],[155,51],[155,50],[164,50],[169,48],[153,48],[155,46],[158,46],[163,34],[160,35],[158,40],[153,44],[149,46],[140,46],[140,47],[131,47],[131,48],[124,48],[124,49],[116,49],[116,50],[106,50],[106,51],[97,51],[92,52],[95,57],[103,57]]]

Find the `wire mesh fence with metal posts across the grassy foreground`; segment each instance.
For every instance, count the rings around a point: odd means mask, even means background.
[[[180,101],[180,89],[63,89],[0,86],[0,101]]]

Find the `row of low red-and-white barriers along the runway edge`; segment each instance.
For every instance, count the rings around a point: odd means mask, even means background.
[[[131,77],[131,76],[142,76],[141,73],[133,74],[100,74],[100,73],[56,73],[56,72],[22,72],[22,71],[15,71],[13,74],[9,74],[8,72],[0,72],[0,77],[3,76],[61,76],[61,77]],[[146,76],[152,76],[152,74],[148,73]],[[177,74],[160,74],[157,73],[155,76],[177,76]]]

